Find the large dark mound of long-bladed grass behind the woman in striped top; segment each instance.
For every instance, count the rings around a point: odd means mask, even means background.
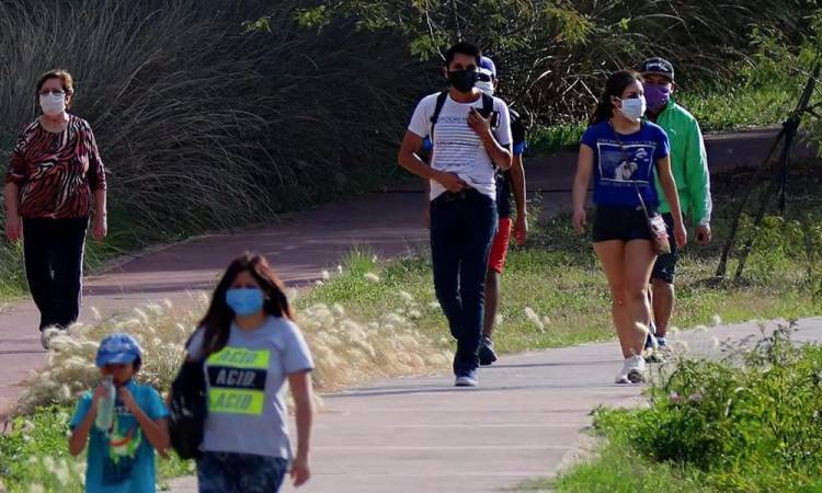
[[[38,76],[65,67],[109,167],[115,236],[231,228],[374,186],[422,76],[396,36],[301,30],[304,3],[4,1],[0,147],[37,115]],[[243,27],[262,14],[271,32]]]

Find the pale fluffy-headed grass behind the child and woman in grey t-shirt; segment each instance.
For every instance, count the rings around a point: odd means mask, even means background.
[[[100,341],[114,332],[132,334],[142,349],[137,379],[168,391],[183,358],[184,344],[207,308],[205,294],[191,297],[186,308],[170,301],[147,305],[67,333],[53,332],[45,367],[25,382],[15,414],[37,406],[70,404],[79,393],[100,382],[94,356]],[[414,325],[412,317],[389,312],[378,320],[346,313],[340,305],[313,305],[297,312],[315,358],[311,374],[318,390],[329,391],[375,378],[432,372],[447,367],[449,357]]]

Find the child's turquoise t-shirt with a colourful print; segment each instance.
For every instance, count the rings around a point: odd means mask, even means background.
[[[126,383],[142,412],[151,420],[168,417],[162,398],[151,386]],[[75,429],[91,409],[92,392],[85,392],[77,403],[69,427]],[[114,423],[106,434],[96,426],[89,434],[85,491],[88,493],[153,493],[157,473],[155,449],[142,433],[137,419],[117,399]]]

